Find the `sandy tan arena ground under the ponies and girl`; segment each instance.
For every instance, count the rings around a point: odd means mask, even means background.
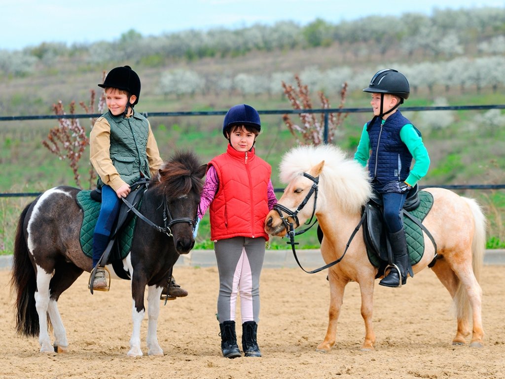
[[[485,346],[452,346],[456,321],[450,297],[431,270],[401,289],[376,285],[376,350],[362,352],[364,325],[357,283],[346,288],[330,353],[318,353],[327,326],[326,273],[265,268],[258,342],[261,358],[221,355],[216,321],[217,268],[176,267],[189,291],[162,307],[158,328],[164,357],[129,358],[130,284],[114,280],[111,291],[90,295],[81,275],[59,301],[67,329],[65,354],[42,354],[36,339],[15,331],[10,271],[0,270],[0,378],[505,378],[505,280],[503,266],[484,266],[481,286]],[[377,282],[376,282],[377,283]],[[147,319],[142,324],[146,353]],[[240,338],[241,329],[237,330]]]

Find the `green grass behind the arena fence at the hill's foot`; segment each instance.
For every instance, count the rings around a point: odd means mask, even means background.
[[[33,96],[35,102],[38,97]],[[503,104],[505,93],[483,91],[476,93],[449,94],[450,105]],[[142,98],[142,108],[138,110],[156,112],[167,110],[203,111],[226,110],[231,105],[247,102],[257,109],[288,109],[284,99],[260,96],[243,99],[240,96],[216,98],[214,96],[196,96],[191,99],[164,99],[155,93],[147,92]],[[368,107],[369,100],[361,91],[348,94],[346,105],[349,107]],[[38,103],[37,103],[38,104]],[[314,101],[314,107],[317,108]],[[139,104],[140,105],[140,104]],[[336,104],[333,104],[334,106]],[[409,105],[429,106],[431,100],[427,93],[420,92],[409,99]],[[37,108],[36,106],[34,108]],[[423,132],[423,140],[431,157],[431,167],[422,184],[478,184],[502,183],[505,177],[505,159],[502,156],[502,142],[505,129],[476,125],[475,114],[481,111],[457,111],[455,121],[446,128],[432,129],[423,124],[417,112],[408,112],[415,125]],[[46,112],[50,113],[50,112]],[[291,118],[298,121],[296,115]],[[339,131],[336,144],[353,154],[359,141],[363,124],[370,114],[349,114]],[[176,150],[194,150],[202,162],[208,162],[217,154],[224,152],[226,140],[222,136],[222,116],[190,117],[151,117],[149,121],[158,141],[161,155],[168,159]],[[82,125],[89,125],[84,119]],[[2,141],[0,149],[0,192],[42,192],[56,185],[75,185],[73,174],[66,162],[60,161],[49,153],[41,140],[56,120],[7,121],[0,124]],[[257,141],[257,152],[272,165],[274,187],[283,188],[278,178],[278,166],[284,152],[295,145],[282,121],[281,115],[262,115],[263,133]],[[87,126],[90,129],[90,126]],[[88,129],[88,130],[89,130]],[[88,152],[81,161],[80,174],[83,186],[88,186],[85,178],[88,174]],[[461,195],[475,197],[483,206],[489,220],[488,247],[505,246],[505,230],[501,214],[505,210],[503,190],[497,191],[460,191]],[[0,198],[0,254],[12,253],[17,218],[32,198]],[[199,228],[197,248],[212,248],[208,241],[209,227],[205,218]],[[315,228],[306,234],[297,236],[299,248],[318,247]],[[285,240],[274,238],[272,249],[286,249]]]

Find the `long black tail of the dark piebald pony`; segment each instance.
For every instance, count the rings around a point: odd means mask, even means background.
[[[23,226],[30,205],[26,206],[19,217],[16,239],[14,241],[11,285],[16,292],[17,332],[27,337],[37,337],[39,334],[39,322],[34,296],[37,289],[37,281],[35,269],[28,255],[28,246],[26,245]]]

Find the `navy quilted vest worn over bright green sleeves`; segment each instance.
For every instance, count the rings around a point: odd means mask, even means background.
[[[400,139],[400,129],[411,122],[400,111],[389,116],[383,124],[379,118],[372,125],[370,122],[367,126],[372,151],[368,161],[370,177],[383,185],[393,180],[407,179],[412,154]]]

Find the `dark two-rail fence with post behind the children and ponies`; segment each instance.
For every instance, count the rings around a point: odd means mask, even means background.
[[[505,104],[494,105],[458,105],[458,106],[440,106],[440,107],[406,107],[402,106],[402,111],[460,111],[460,110],[488,110],[505,109]],[[188,111],[188,112],[142,112],[146,117],[176,117],[176,116],[223,116],[227,111]],[[320,109],[273,109],[258,110],[258,113],[265,115],[284,115],[284,114],[302,114],[302,113],[322,113],[324,114],[324,137],[327,143],[328,137],[328,115],[330,113],[364,113],[370,112],[370,108],[320,108]],[[0,121],[18,121],[18,120],[51,120],[51,119],[81,119],[97,118],[102,116],[95,114],[62,114],[62,115],[27,115],[27,116],[0,116]],[[505,184],[452,184],[452,185],[422,185],[420,189],[428,187],[440,187],[447,189],[503,189]],[[275,192],[283,192],[283,188],[274,188]],[[5,197],[37,197],[41,193],[0,193],[0,198]]]

